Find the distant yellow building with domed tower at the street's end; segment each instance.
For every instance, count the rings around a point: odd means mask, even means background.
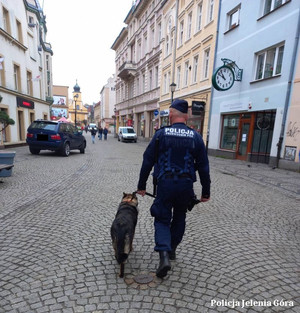
[[[88,109],[83,105],[80,87],[77,84],[73,87],[73,97],[69,100],[69,119],[78,126],[87,124]]]

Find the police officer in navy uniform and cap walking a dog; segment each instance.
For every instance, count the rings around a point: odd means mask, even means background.
[[[201,135],[186,126],[187,112],[187,101],[173,101],[169,115],[171,126],[162,127],[155,133],[144,152],[140,171],[138,194],[145,195],[153,166],[153,176],[157,180],[157,196],[150,209],[154,217],[154,250],[160,255],[157,277],[165,277],[171,269],[170,259],[176,259],[176,248],[185,231],[187,208],[191,209],[195,199],[196,171],[202,185],[201,201],[210,198],[206,149]]]

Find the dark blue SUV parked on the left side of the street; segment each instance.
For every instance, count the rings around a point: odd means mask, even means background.
[[[32,154],[51,150],[69,156],[71,150],[85,152],[86,140],[82,131],[70,123],[36,120],[27,129],[26,142]]]

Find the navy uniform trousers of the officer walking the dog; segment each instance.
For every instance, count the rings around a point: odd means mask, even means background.
[[[187,206],[194,196],[190,178],[162,178],[150,208],[154,217],[155,251],[171,251],[182,241]]]

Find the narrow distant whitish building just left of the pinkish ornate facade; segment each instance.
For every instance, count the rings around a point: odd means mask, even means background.
[[[114,109],[116,103],[115,75],[107,80],[107,84],[100,91],[100,125],[107,128],[111,133],[114,132],[115,119]]]

